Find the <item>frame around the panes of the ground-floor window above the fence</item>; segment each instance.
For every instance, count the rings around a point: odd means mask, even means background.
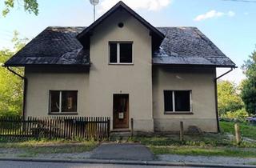
[[[51,112],[51,92],[52,91],[58,91],[59,92],[59,111],[58,112]],[[73,92],[76,92],[77,93],[77,110],[76,111],[62,111],[62,92],[64,91],[73,91]],[[66,115],[66,114],[69,114],[69,115],[77,115],[78,114],[78,90],[49,90],[49,106],[48,106],[49,110],[48,110],[48,114],[50,115]]]

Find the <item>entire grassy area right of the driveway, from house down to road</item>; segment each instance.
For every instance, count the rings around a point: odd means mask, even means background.
[[[130,141],[141,142],[154,154],[256,158],[256,142],[242,142],[238,145],[234,138],[226,135],[234,134],[234,122],[220,122],[220,126],[220,134],[185,135],[183,142],[179,141],[178,134],[134,137]],[[256,126],[242,123],[240,128],[242,136],[256,139]]]

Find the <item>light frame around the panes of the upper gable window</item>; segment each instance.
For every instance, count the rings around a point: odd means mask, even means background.
[[[117,44],[117,62],[110,62],[110,44],[116,43]],[[131,44],[131,62],[120,62],[120,44],[128,43]],[[134,42],[131,41],[110,41],[109,42],[109,65],[134,65]]]

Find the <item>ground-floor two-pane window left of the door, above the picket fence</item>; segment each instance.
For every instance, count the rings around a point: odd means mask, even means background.
[[[50,90],[50,113],[77,112],[78,91]]]

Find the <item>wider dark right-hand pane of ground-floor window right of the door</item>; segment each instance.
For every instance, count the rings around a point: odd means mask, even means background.
[[[175,111],[190,111],[190,91],[174,91]]]

